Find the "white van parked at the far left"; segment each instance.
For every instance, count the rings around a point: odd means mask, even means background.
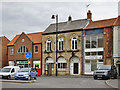
[[[6,66],[0,70],[0,78],[14,78],[15,74],[20,70],[19,66]]]

